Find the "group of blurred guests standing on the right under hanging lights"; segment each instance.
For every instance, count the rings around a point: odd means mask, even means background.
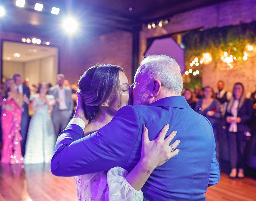
[[[219,160],[220,135],[228,137],[230,154],[230,178],[244,177],[246,167],[246,142],[256,134],[256,91],[245,95],[244,85],[235,83],[233,91],[224,89],[223,81],[217,83],[218,91],[212,87],[195,87],[194,92],[185,88],[183,96],[188,104],[212,124],[216,141],[217,160]],[[237,172],[238,169],[238,172]]]

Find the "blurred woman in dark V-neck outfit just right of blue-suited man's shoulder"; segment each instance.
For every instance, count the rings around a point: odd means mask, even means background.
[[[214,98],[212,87],[204,87],[203,99],[198,100],[195,111],[204,115],[212,124],[212,130],[216,142],[216,158],[219,161],[218,119],[220,118],[220,103]]]

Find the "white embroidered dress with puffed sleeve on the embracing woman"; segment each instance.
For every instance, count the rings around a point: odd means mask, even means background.
[[[78,201],[143,201],[141,190],[126,181],[127,170],[115,167],[105,172],[75,176]]]

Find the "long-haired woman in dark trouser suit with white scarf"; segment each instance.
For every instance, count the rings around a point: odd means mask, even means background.
[[[233,95],[228,102],[226,112],[231,166],[229,177],[231,179],[236,177],[236,168],[239,168],[237,177],[240,179],[244,178],[246,164],[244,135],[250,130],[247,123],[252,118],[252,108],[252,101],[245,98],[244,85],[242,83],[235,83]],[[239,161],[238,164],[237,161]]]

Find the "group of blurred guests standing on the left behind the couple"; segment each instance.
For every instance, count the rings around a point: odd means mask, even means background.
[[[67,126],[76,102],[75,88],[64,81],[64,75],[58,74],[53,87],[42,82],[29,88],[20,74],[6,79],[0,102],[2,163],[51,161],[57,136]]]

